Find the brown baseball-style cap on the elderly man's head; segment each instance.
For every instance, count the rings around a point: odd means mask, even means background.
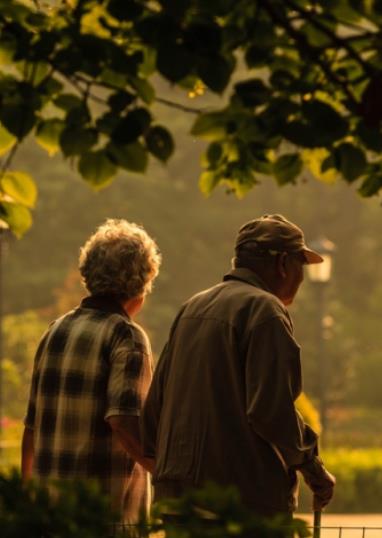
[[[235,250],[250,249],[254,255],[302,252],[306,263],[321,263],[322,256],[305,244],[304,233],[282,215],[263,215],[240,228]]]

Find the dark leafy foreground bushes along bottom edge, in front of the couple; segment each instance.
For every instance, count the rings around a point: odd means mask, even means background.
[[[163,522],[163,513],[176,513],[177,522]],[[18,472],[0,475],[2,538],[149,538],[165,531],[166,538],[279,537],[282,517],[264,520],[243,508],[235,488],[210,484],[181,499],[158,503],[153,522],[112,525],[107,498],[88,482],[23,483]],[[306,524],[293,522],[293,536],[309,536]],[[292,538],[292,536],[291,536]]]

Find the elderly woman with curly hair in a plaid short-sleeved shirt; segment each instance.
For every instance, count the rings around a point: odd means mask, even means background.
[[[125,523],[150,502],[138,420],[152,376],[150,344],[133,321],[158,274],[143,228],[107,220],[81,249],[89,296],[38,346],[22,443],[25,479],[95,479]]]

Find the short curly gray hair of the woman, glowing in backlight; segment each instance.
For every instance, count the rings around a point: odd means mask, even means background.
[[[81,248],[79,269],[91,295],[131,299],[151,291],[160,263],[155,241],[141,226],[108,219]]]

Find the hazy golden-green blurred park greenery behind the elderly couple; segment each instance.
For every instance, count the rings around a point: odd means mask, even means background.
[[[326,236],[336,246],[326,287],[325,357],[317,356],[317,304],[306,281],[291,311],[302,346],[304,389],[317,404],[317,380],[326,364],[328,422],[324,457],[339,477],[334,511],[379,511],[382,490],[382,208],[351,186],[324,184],[304,173],[298,185],[264,180],[244,199],[198,190],[200,143],[186,137],[189,120],[159,109],[176,129],[179,151],[171,165],[153,165],[145,177],[121,175],[94,194],[60,157],[26,145],[18,163],[33,170],[39,187],[34,225],[22,240],[3,237],[3,440],[1,466],[18,465],[21,420],[33,355],[48,323],[84,295],[77,257],[87,236],[107,217],[141,223],[163,254],[163,266],[140,322],[155,355],[179,306],[230,269],[239,226],[264,213],[283,213],[308,241]],[[171,114],[171,117],[170,117]],[[306,278],[306,280],[308,280]],[[317,422],[312,411],[305,411]],[[302,508],[309,508],[304,493]]]

